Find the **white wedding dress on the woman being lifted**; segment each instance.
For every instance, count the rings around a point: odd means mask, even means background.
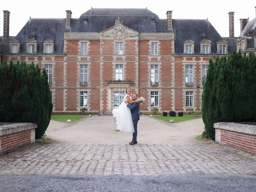
[[[117,130],[126,133],[133,133],[134,126],[132,122],[131,110],[127,107],[126,103],[124,103],[124,101],[127,101],[126,96],[128,95],[126,94],[124,96],[124,100],[120,104],[119,108],[112,110],[112,114],[113,117],[116,118]]]

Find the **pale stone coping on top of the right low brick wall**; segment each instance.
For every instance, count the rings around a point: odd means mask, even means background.
[[[254,125],[247,125],[241,123],[234,123],[234,122],[218,122],[213,124],[214,128],[229,130],[239,133],[245,133],[250,135],[256,135],[256,126]]]

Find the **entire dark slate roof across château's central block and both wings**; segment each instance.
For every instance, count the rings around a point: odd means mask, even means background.
[[[43,42],[54,41],[54,53],[63,54],[64,32],[102,32],[114,26],[120,17],[124,26],[140,33],[166,33],[167,20],[159,19],[156,14],[148,9],[98,9],[92,8],[83,13],[80,18],[70,20],[70,28],[66,28],[66,18],[63,19],[30,19],[15,37],[3,38],[5,44],[1,45],[1,52],[9,52],[9,41],[16,39],[20,42],[20,53],[26,53],[26,41],[36,35],[38,42],[37,53],[43,53]],[[84,23],[87,19],[87,24]],[[154,19],[154,23],[152,23]],[[195,54],[200,53],[202,34],[212,41],[212,54],[217,52],[216,42],[223,38],[214,29],[208,20],[172,19],[175,36],[175,53],[183,53],[183,43],[186,40],[194,41]],[[226,41],[233,40],[226,39]],[[234,43],[235,44],[235,43]],[[230,52],[230,50],[228,50]]]

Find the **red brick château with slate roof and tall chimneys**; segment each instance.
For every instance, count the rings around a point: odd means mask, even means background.
[[[159,19],[148,9],[92,8],[80,18],[28,20],[9,36],[4,10],[1,60],[34,62],[45,68],[54,112],[110,112],[127,87],[146,99],[140,112],[200,111],[209,59],[234,49],[255,52],[256,19],[240,19],[234,37],[221,37],[208,20]],[[228,28],[228,27],[227,27]]]

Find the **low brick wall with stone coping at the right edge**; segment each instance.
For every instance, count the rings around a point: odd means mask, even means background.
[[[256,126],[252,124],[214,123],[215,142],[226,144],[256,155]]]

